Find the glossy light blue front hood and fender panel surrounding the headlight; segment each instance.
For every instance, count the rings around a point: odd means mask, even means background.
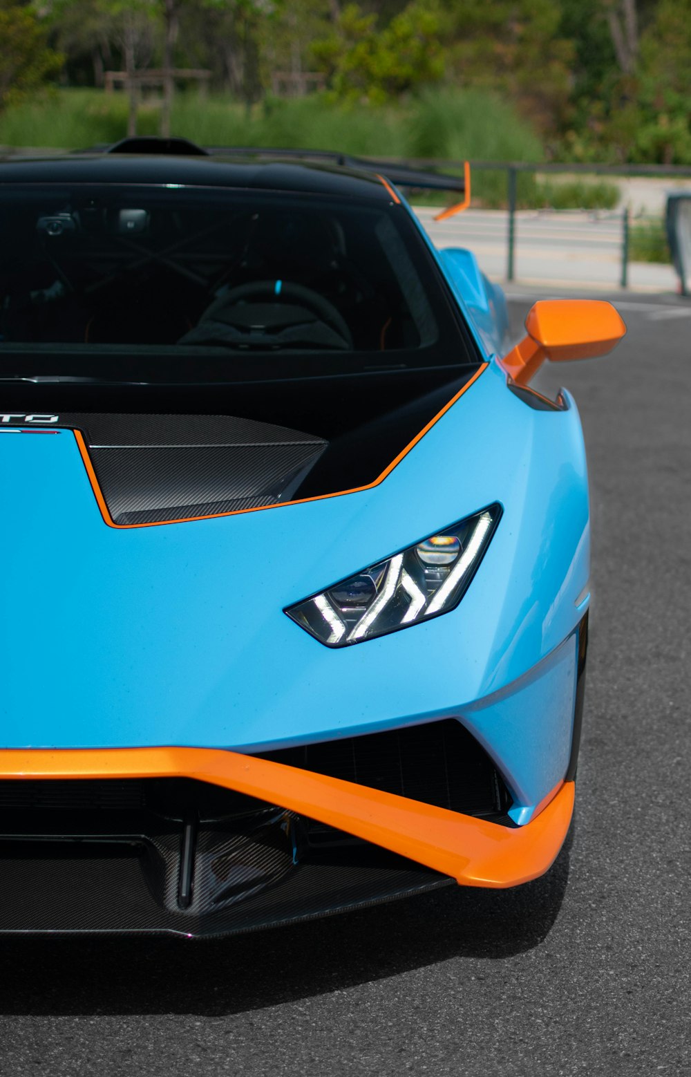
[[[568,404],[530,408],[493,363],[373,489],[123,530],[70,431],[0,432],[0,746],[251,752],[453,716],[526,822],[566,770],[589,578]],[[342,649],[283,613],[495,501],[452,613]]]

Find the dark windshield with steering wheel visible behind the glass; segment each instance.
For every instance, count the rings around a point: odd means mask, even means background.
[[[223,353],[226,366],[242,353],[475,359],[400,209],[174,184],[37,184],[0,193],[0,361],[86,351],[101,358],[88,366],[97,375],[114,353]]]

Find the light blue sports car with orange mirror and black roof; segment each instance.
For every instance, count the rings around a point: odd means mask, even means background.
[[[0,162],[0,932],[223,935],[558,855],[588,479],[530,382],[624,326],[542,302],[510,348],[405,187],[464,183]]]

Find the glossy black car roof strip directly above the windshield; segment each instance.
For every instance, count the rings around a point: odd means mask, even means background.
[[[213,156],[170,154],[69,153],[0,158],[2,183],[168,183],[183,186],[282,191],[336,195],[391,202],[381,178],[365,170],[307,162],[242,162]]]

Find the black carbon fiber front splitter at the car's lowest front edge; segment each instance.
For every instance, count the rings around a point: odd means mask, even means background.
[[[216,909],[181,909],[152,886],[142,845],[2,843],[0,933],[231,935],[343,912],[448,885],[451,879],[372,845],[311,851],[282,878],[248,886]],[[270,859],[270,854],[268,855]],[[257,862],[260,872],[269,865]],[[170,849],[163,865],[178,873]]]

